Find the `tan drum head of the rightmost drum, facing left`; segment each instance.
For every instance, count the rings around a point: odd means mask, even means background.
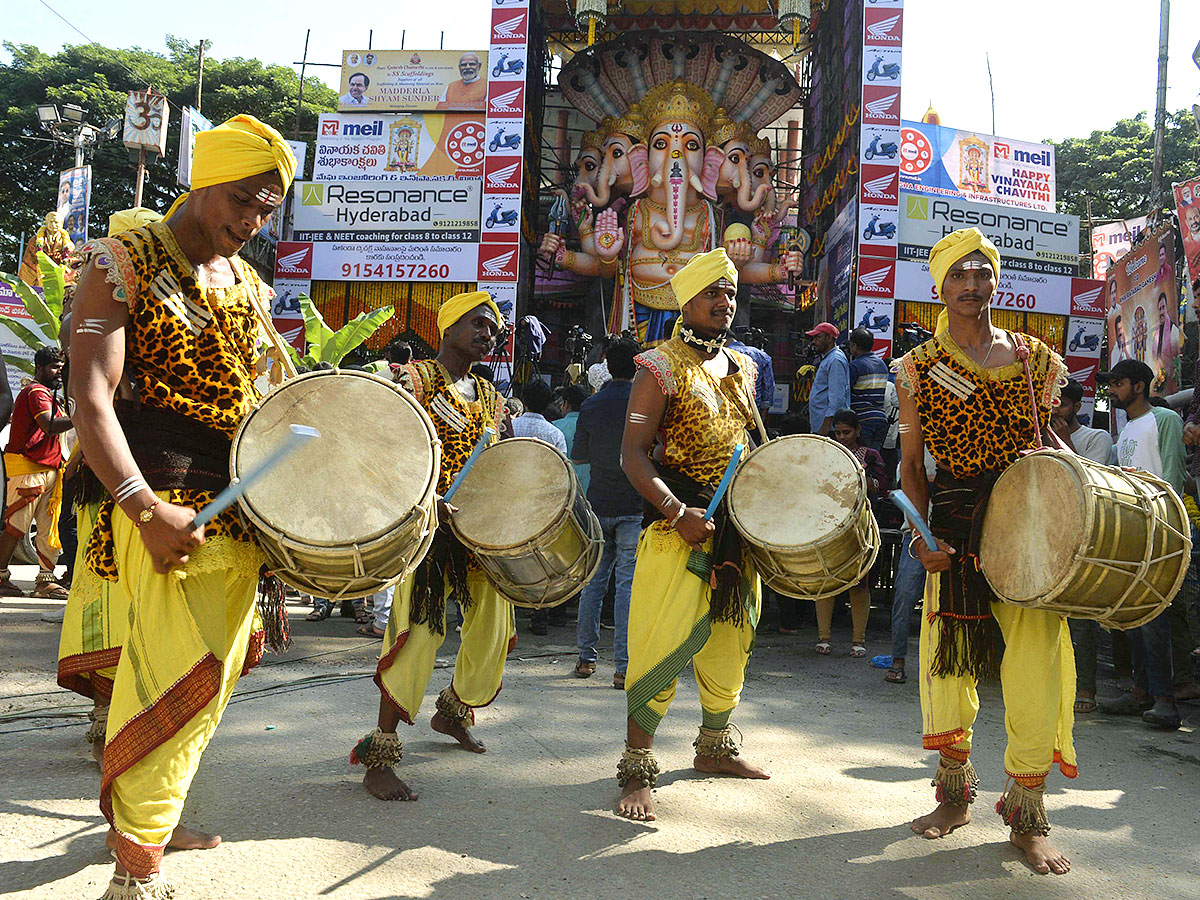
[[[984,514],[979,568],[1006,600],[1036,600],[1075,564],[1084,540],[1084,482],[1057,454],[1018,460],[996,481]]]

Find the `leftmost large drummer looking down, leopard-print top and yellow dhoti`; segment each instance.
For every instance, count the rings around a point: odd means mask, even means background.
[[[263,653],[262,552],[236,508],[192,522],[228,485],[233,434],[258,400],[274,293],[236,254],[283,202],[296,163],[248,115],[197,136],[192,161],[193,190],[166,221],[83,248],[72,307],[74,425],[107,488],[80,541],[88,568],[130,600],[100,794],[116,851],[109,900],[170,896],[158,874],[168,841],[220,841],[179,817],[239,676]],[[140,403],[119,419],[126,370]],[[276,601],[278,612],[282,590]]]

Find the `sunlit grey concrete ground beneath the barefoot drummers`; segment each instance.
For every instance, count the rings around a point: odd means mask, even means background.
[[[97,898],[112,870],[98,769],[88,704],[54,684],[58,628],[40,618],[50,607],[0,601],[0,896]],[[934,805],[916,678],[884,684],[846,655],[846,628],[828,659],[812,653],[811,629],[760,634],[734,721],[770,781],[690,769],[700,707],[688,674],[659,731],[659,821],[632,823],[612,812],[624,695],[611,688],[611,631],[599,671],[580,680],[574,629],[535,637],[522,617],[504,691],[479,713],[482,756],[430,730],[449,678],[436,672],[418,725],[401,726],[402,776],[421,797],[380,803],[348,764],[373,727],[366,673],[379,643],[305,612],[293,610],[293,648],[239,684],[192,784],[185,822],[224,842],[168,853],[180,900],[1200,896],[1196,706],[1182,707],[1176,733],[1078,721],[1081,775],[1052,775],[1046,796],[1074,869],[1039,876],[991,812],[1004,786],[997,685],[980,691],[976,821],[925,841],[906,824]],[[887,616],[874,616],[870,652],[887,653]],[[456,646],[451,634],[445,667]]]

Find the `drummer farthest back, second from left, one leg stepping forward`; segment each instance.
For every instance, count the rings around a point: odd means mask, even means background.
[[[486,749],[470,733],[475,709],[496,700],[504,659],[516,644],[512,605],[450,533],[445,523],[454,508],[440,499],[484,430],[499,432],[504,397],[470,368],[492,352],[500,322],[500,311],[486,290],[452,296],[438,311],[442,346],[437,359],[409,362],[396,373],[400,385],[430,414],[442,442],[437,490],[443,527],[421,564],[396,588],[374,676],[380,694],[378,727],[350,752],[352,763],[366,766],[364,786],[380,800],[416,799],[416,792],[395,773],[401,758],[396,726],[401,721],[413,725],[420,709],[445,640],[446,605],[454,600],[462,607],[462,644],[430,726],[472,752]]]

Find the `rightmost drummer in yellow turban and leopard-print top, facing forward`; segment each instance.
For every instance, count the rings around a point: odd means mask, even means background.
[[[1045,428],[1066,367],[1037,338],[991,324],[1000,252],[979,229],[940,240],[929,269],[944,304],[935,336],[894,364],[901,482],[917,509],[926,509],[932,494],[937,538],[936,548],[920,536],[910,548],[929,572],[920,623],[920,706],[924,748],[940,752],[932,782],[937,809],[913,821],[912,829],[932,839],[971,821],[979,784],[971,766],[979,710],[976,684],[998,667],[1009,785],[996,811],[1036,871],[1062,875],[1070,862],[1046,838],[1043,794],[1054,763],[1067,778],[1076,775],[1070,635],[1057,613],[996,600],[979,571],[978,534],[996,479],[1022,451],[1037,446],[1032,401],[1037,422]],[[1045,428],[1048,444],[1054,443],[1051,434]],[[937,461],[931,488],[923,466],[926,448]],[[1014,509],[1010,515],[1013,527],[1020,528],[1025,512]]]

